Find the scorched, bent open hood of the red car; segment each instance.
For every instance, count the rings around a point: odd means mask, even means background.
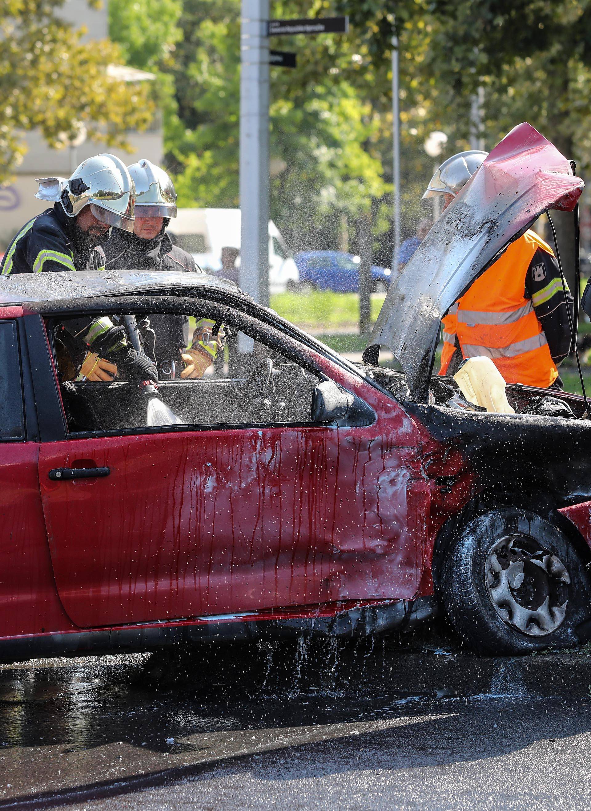
[[[584,183],[550,141],[523,123],[498,144],[392,283],[364,357],[388,346],[411,396],[424,401],[439,324],[474,279],[549,208],[572,211]]]

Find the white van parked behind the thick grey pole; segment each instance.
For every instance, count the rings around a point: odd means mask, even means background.
[[[240,225],[239,208],[178,208],[167,230],[174,244],[192,254],[199,267],[216,273],[221,270],[223,247],[240,250]],[[269,220],[269,293],[295,290],[298,281],[298,266]]]

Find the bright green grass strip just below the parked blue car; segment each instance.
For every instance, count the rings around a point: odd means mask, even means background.
[[[371,295],[371,320],[375,321],[385,294]],[[333,293],[314,290],[311,293],[278,293],[271,296],[271,307],[292,324],[307,332],[353,333],[359,328],[359,296],[357,293]]]

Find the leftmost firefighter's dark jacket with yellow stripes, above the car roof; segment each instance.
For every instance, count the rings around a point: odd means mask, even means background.
[[[19,230],[0,263],[0,273],[101,271],[104,266],[102,248],[83,245],[76,236],[74,221],[56,203]]]

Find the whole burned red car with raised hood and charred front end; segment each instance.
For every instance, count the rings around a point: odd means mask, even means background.
[[[547,416],[550,393],[510,386],[516,414],[456,410],[454,380],[430,374],[456,296],[581,189],[541,135],[507,136],[391,288],[359,365],[212,277],[3,277],[0,658],[364,636],[438,605],[477,650],[587,638],[585,402],[553,392]],[[174,424],[148,426],[125,380],[65,380],[64,324],[130,313],[233,333],[201,379],[159,383]]]

